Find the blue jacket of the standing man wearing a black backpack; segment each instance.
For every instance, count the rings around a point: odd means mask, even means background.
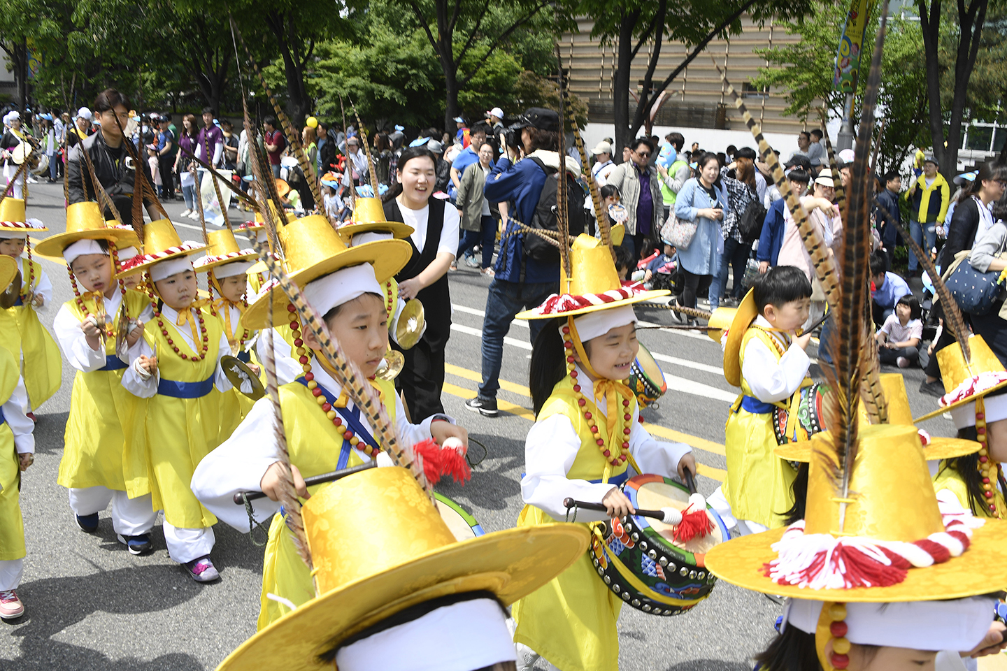
[[[537,152],[538,156],[552,154],[552,163],[559,165],[559,155],[556,152]],[[550,161],[544,161],[547,165]],[[493,269],[496,280],[502,282],[521,282],[521,262],[524,258],[524,234],[512,235],[515,221],[531,225],[535,207],[539,204],[542,187],[546,183],[546,172],[535,161],[519,161],[513,165],[505,156],[486,176],[486,186],[483,190],[489,202],[513,201],[505,237],[500,240],[499,255]],[[525,264],[525,282],[559,282],[559,264],[540,264],[529,259]]]

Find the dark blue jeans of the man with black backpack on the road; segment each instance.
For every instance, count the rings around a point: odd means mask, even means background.
[[[558,289],[557,282],[521,284],[493,279],[489,283],[486,315],[482,318],[482,382],[479,384],[479,398],[495,398],[496,391],[500,388],[503,336],[511,330],[515,315],[542,305]],[[533,319],[529,322],[533,344],[549,321]]]

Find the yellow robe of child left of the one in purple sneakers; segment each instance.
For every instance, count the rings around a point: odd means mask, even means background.
[[[84,312],[76,300],[65,305],[84,321]],[[89,314],[98,312],[93,298],[85,299],[85,305]],[[139,319],[150,299],[130,290],[124,305],[129,317]],[[118,323],[118,315],[110,315],[109,319]],[[108,338],[106,356],[115,358],[115,337]],[[125,370],[77,371],[56,480],[61,486],[84,489],[100,485],[125,491],[130,498],[150,493],[144,433],[148,399],[138,398],[123,387]]]

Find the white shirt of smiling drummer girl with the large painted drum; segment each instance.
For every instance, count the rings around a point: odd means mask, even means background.
[[[581,379],[587,374],[577,367]],[[594,402],[593,385],[585,384],[584,397]],[[596,403],[598,411],[605,414],[605,403]],[[629,452],[646,473],[671,476],[678,472],[679,461],[692,448],[684,443],[657,441],[639,423],[639,410],[633,413],[629,433]],[[563,521],[566,508],[563,500],[570,497],[578,501],[601,503],[601,499],[614,489],[611,484],[591,483],[587,480],[567,478],[570,467],[581,449],[580,437],[565,414],[554,414],[536,422],[525,440],[525,468],[521,479],[521,495],[525,503],[541,508],[553,519]],[[587,448],[585,448],[587,449]],[[593,448],[592,448],[593,449]],[[607,519],[604,512],[579,510],[578,522]]]

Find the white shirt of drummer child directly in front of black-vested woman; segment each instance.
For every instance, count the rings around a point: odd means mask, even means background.
[[[312,357],[311,363],[315,381],[332,395],[338,396],[342,387],[332,379],[317,359]],[[349,401],[346,407],[351,409],[353,402]],[[238,492],[259,491],[259,483],[266,470],[280,460],[279,444],[276,441],[273,424],[274,413],[273,401],[269,396],[257,400],[231,438],[206,455],[192,475],[191,487],[195,497],[218,518],[245,533],[249,532],[248,514],[244,506],[235,505],[233,498]],[[395,416],[396,438],[401,446],[411,447],[431,438],[430,423],[434,417],[427,417],[418,425],[409,424],[406,421],[402,399],[398,395],[395,396]],[[446,415],[435,416],[445,417],[453,424],[453,420]],[[378,436],[368,422],[367,415],[361,412],[359,418],[377,439]],[[354,452],[365,463],[371,459],[359,450]],[[336,458],[333,450],[333,470]],[[392,466],[391,457],[382,452],[378,457],[378,465]],[[255,518],[264,522],[280,509],[280,504],[269,499],[259,499],[253,508]]]

